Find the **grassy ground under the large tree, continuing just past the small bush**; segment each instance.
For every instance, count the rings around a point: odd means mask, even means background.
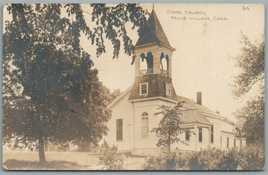
[[[4,169],[98,170],[99,155],[88,152],[45,152],[46,162],[40,164],[38,152],[3,150]],[[123,169],[142,170],[146,157],[126,155]]]

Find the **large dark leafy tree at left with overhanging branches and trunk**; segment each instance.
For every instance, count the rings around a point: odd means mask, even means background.
[[[92,4],[93,29],[79,4],[11,4],[7,10],[3,59],[3,143],[38,149],[45,161],[44,141],[83,139],[96,145],[107,134],[109,99],[98,79],[91,55],[80,46],[84,35],[106,52],[104,38],[112,42],[117,58],[123,40],[125,53],[135,59],[125,24],[147,26],[137,4]],[[68,17],[64,16],[64,11]],[[138,32],[140,29],[138,29]]]

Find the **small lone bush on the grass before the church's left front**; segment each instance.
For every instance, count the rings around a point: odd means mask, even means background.
[[[117,146],[110,147],[107,142],[104,142],[103,147],[98,165],[106,170],[123,169],[124,156],[116,153]]]

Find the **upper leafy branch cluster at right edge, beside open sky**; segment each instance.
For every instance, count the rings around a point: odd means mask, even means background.
[[[264,32],[254,43],[243,33],[241,35],[240,43],[243,47],[240,54],[233,58],[236,61],[235,66],[241,68],[241,73],[234,76],[234,84],[232,84],[235,98],[244,96],[257,82],[260,92],[264,88]]]

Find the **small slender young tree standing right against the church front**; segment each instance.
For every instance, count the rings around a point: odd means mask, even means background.
[[[151,130],[151,132],[155,132],[156,136],[159,138],[156,146],[167,148],[168,152],[170,151],[170,145],[175,142],[188,145],[188,143],[178,138],[178,135],[184,132],[189,132],[189,134],[193,133],[193,131],[181,127],[183,122],[181,121],[180,115],[182,115],[182,113],[178,112],[178,110],[182,107],[182,103],[185,102],[179,102],[173,107],[165,105],[159,106],[158,110],[160,111],[154,114],[154,116],[163,116],[159,127]]]

